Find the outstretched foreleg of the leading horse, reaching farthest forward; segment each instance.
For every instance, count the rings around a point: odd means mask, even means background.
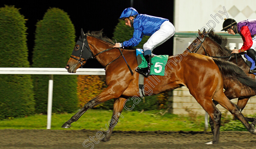
[[[118,98],[121,96],[122,93],[123,92],[121,87],[108,86],[102,93],[100,93],[97,97],[87,102],[82,109],[80,109],[75,115],[73,115],[68,121],[66,121],[62,125],[62,128],[71,127],[71,123],[77,121],[88,109],[91,109],[92,107],[100,103],[104,103],[107,100]]]

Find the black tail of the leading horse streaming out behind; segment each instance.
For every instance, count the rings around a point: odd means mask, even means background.
[[[232,80],[237,84],[242,84],[244,88],[251,94],[256,93],[256,80],[247,76],[244,71],[234,63],[213,58],[215,64],[219,67],[222,77]]]

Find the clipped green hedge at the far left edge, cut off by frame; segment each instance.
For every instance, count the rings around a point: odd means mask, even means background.
[[[0,67],[29,67],[26,19],[14,6],[0,8]],[[0,75],[0,119],[34,113],[30,75]]]

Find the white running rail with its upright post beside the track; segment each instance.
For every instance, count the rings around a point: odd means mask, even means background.
[[[77,69],[76,73],[68,73],[65,68],[0,68],[0,74],[44,74],[50,75],[48,86],[48,104],[47,104],[47,126],[51,129],[52,122],[52,92],[53,75],[105,75],[104,69]]]

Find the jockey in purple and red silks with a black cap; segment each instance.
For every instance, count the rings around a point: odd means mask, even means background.
[[[241,49],[233,49],[231,53],[247,52],[256,64],[256,19],[244,20],[236,23],[234,19],[224,19],[223,29],[221,31],[228,31],[229,34],[235,35],[236,33],[242,36],[244,41]],[[251,73],[256,73],[256,68],[250,70]]]

